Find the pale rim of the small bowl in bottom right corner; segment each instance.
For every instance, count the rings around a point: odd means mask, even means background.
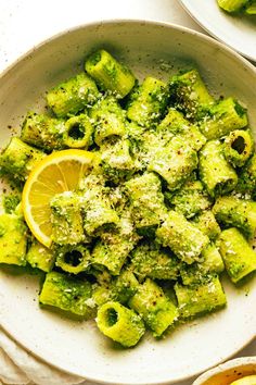
[[[204,385],[205,381],[210,380],[210,377],[215,374],[226,372],[227,370],[232,370],[239,367],[247,367],[247,365],[255,365],[255,371],[256,371],[256,356],[251,356],[251,357],[239,357],[233,360],[226,361],[223,363],[220,363],[217,367],[214,367],[203,374],[201,374],[192,385]]]

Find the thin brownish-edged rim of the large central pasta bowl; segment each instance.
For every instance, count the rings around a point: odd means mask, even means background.
[[[232,48],[226,46],[223,42],[216,40],[214,37],[212,36],[207,36],[204,33],[200,33],[197,30],[194,30],[192,28],[185,27],[185,26],[181,26],[179,24],[175,24],[175,23],[168,23],[168,22],[162,22],[162,21],[154,21],[154,20],[143,20],[143,18],[110,18],[110,20],[95,20],[89,23],[85,23],[85,24],[79,24],[76,26],[73,26],[71,28],[66,28],[63,29],[56,34],[53,34],[50,37],[47,37],[44,39],[42,39],[41,41],[39,41],[38,44],[36,44],[35,46],[33,46],[30,49],[26,50],[24,53],[22,53],[17,59],[15,59],[13,62],[11,62],[11,64],[9,64],[5,69],[3,69],[0,72],[0,82],[7,76],[9,75],[9,73],[13,70],[15,70],[15,67],[17,65],[20,65],[23,61],[27,60],[27,58],[29,58],[29,55],[34,54],[35,51],[43,48],[44,46],[47,46],[48,44],[63,37],[64,35],[68,35],[68,34],[73,34],[76,30],[79,29],[86,29],[88,27],[99,27],[99,26],[104,26],[104,25],[118,25],[118,24],[133,24],[133,25],[150,25],[150,26],[158,26],[158,27],[163,27],[163,28],[169,28],[181,32],[183,34],[188,34],[190,36],[195,36],[196,38],[212,45],[215,46],[217,48],[220,49],[220,51],[227,52],[229,54],[230,58],[234,59],[236,63],[241,63],[244,67],[246,67],[249,72],[249,75],[254,76],[256,79],[256,67],[244,57],[242,57],[239,52],[236,52],[235,50],[233,50]],[[65,370],[61,367],[59,367],[57,364],[53,364],[50,362],[50,360],[43,359],[41,358],[39,355],[34,353],[29,348],[26,347],[25,344],[21,343],[18,339],[16,339],[15,337],[12,336],[12,332],[10,332],[8,330],[8,327],[4,327],[3,325],[1,325],[0,322],[0,327],[2,327],[2,330],[13,339],[17,343],[17,345],[20,345],[21,347],[25,348],[26,351],[30,352],[34,357],[38,358],[40,361],[48,363],[50,367],[55,368],[57,370],[61,370],[63,372],[66,372],[67,374],[74,375],[74,377],[77,378],[81,378],[78,374],[75,374],[74,372],[71,372],[68,370]],[[252,340],[254,340],[254,336],[252,336],[252,338],[249,340],[247,340],[245,344],[243,344],[235,352],[222,358],[221,361],[219,362],[223,362],[226,360],[228,360],[229,358],[231,358],[233,355],[238,353],[240,350],[242,350],[246,345],[248,345],[249,343],[252,343]],[[208,371],[210,367],[206,368],[205,371]],[[200,375],[200,373],[202,373],[201,371],[195,372],[192,375],[185,375],[182,378],[179,378],[178,381],[187,381],[187,380],[193,380],[194,376]],[[102,381],[102,380],[97,380],[90,376],[86,377],[87,381],[97,381],[99,384],[106,384],[106,385],[114,385],[114,383],[110,383],[108,381]],[[161,381],[159,383],[141,383],[141,382],[135,382],[132,384],[129,383],[129,385],[169,385],[169,384],[176,384],[177,380],[174,381]],[[117,385],[117,383],[115,383]],[[124,385],[128,385],[128,383],[124,382],[121,383]],[[121,385],[118,382],[118,385]]]

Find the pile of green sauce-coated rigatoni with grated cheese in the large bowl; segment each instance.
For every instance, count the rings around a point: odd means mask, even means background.
[[[236,284],[256,270],[246,110],[216,100],[195,69],[139,83],[103,49],[46,99],[49,112],[28,112],[3,149],[2,174],[23,187],[38,159],[67,148],[95,161],[77,190],[51,200],[51,248],[5,200],[0,262],[44,272],[42,308],[94,318],[125,347],[225,307],[220,274]]]

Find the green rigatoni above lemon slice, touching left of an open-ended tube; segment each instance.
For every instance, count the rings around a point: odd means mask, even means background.
[[[46,151],[65,148],[63,135],[65,122],[46,114],[29,112],[23,122],[21,138],[30,146]]]

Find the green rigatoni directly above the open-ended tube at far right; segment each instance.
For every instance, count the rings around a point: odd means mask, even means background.
[[[246,110],[233,98],[214,104],[200,124],[200,129],[208,139],[219,139],[234,129],[248,124]]]

